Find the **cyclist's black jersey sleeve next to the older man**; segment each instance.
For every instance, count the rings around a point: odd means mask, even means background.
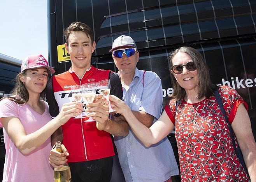
[[[123,87],[119,76],[115,72],[110,72],[110,95],[117,96],[123,100]]]

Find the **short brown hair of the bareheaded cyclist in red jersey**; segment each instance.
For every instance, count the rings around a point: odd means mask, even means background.
[[[65,29],[64,36],[65,36],[67,45],[68,45],[69,35],[74,31],[84,32],[87,35],[88,38],[91,38],[91,44],[93,45],[93,41],[94,41],[93,31],[91,30],[91,28],[88,25],[86,25],[83,22],[73,22],[72,24],[70,24],[69,27],[67,27]]]

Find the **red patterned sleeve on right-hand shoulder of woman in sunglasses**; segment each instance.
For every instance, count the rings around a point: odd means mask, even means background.
[[[244,104],[248,111],[247,103],[242,99],[242,97],[234,88],[229,86],[221,86],[219,92],[221,93],[223,108],[226,111],[226,115],[228,116],[228,121],[230,124],[233,122],[237,113],[237,108],[241,103]]]

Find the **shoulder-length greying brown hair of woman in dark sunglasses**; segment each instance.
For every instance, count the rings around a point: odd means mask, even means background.
[[[216,87],[216,85],[212,84],[212,82],[210,80],[209,68],[208,68],[206,62],[204,61],[202,55],[200,54],[200,52],[191,47],[177,48],[176,50],[171,52],[168,56],[168,60],[170,61],[170,68],[173,66],[172,59],[178,52],[187,53],[196,65],[196,70],[198,72],[197,98],[201,99],[204,96],[207,98],[210,97],[213,94],[214,89],[216,89],[217,87]],[[186,91],[184,88],[182,88],[179,85],[179,83],[177,82],[177,80],[175,79],[173,74],[171,74],[171,75],[172,75],[171,76],[172,87],[174,88],[174,92],[171,95],[171,99],[174,99],[176,101],[181,100],[186,96]]]

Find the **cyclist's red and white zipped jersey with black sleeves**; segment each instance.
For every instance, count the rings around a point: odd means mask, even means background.
[[[74,101],[70,87],[89,82],[110,79],[110,94],[122,98],[123,91],[119,76],[111,70],[91,66],[82,79],[70,68],[67,72],[53,76],[47,83],[46,96],[52,117],[56,117],[64,103]],[[82,114],[84,115],[84,114]],[[96,122],[84,122],[88,118],[70,118],[62,125],[63,144],[70,154],[69,162],[95,160],[115,155],[110,134],[96,128]]]

